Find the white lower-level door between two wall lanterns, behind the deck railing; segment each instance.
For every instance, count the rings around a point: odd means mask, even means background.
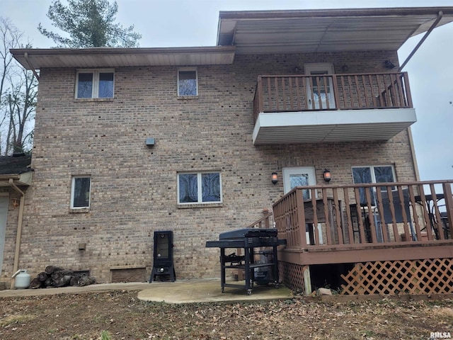
[[[298,166],[283,168],[283,191],[288,193],[296,186],[316,186],[316,176],[313,166]],[[311,198],[310,191],[303,191],[304,200]],[[306,225],[306,240],[309,242],[310,234],[309,227]],[[318,223],[319,243],[323,244],[323,233],[321,224]]]

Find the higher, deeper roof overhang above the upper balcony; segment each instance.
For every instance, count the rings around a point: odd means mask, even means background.
[[[217,45],[236,54],[398,50],[408,38],[453,21],[453,7],[221,11]]]

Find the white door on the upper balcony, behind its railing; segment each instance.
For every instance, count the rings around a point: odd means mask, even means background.
[[[309,108],[315,110],[336,108],[333,79],[326,77],[327,74],[333,74],[333,64],[305,64],[304,72],[307,76],[314,76],[306,79],[306,98]]]

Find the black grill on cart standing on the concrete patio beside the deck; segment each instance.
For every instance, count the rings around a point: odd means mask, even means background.
[[[239,271],[245,271],[246,291],[248,295],[252,293],[254,282],[263,283],[263,278],[256,278],[256,269],[267,268],[273,273],[272,276],[266,278],[266,283],[274,283],[275,288],[278,288],[278,261],[277,261],[277,246],[286,244],[285,239],[277,239],[277,229],[237,229],[231,232],[222,232],[219,234],[219,241],[207,241],[207,248],[220,248],[220,279],[222,285],[222,293],[225,287],[237,288],[243,287],[239,284],[231,284],[225,282],[226,268],[234,268]],[[264,247],[272,247],[270,250],[262,250]],[[225,255],[227,248],[244,249],[243,256],[238,256],[235,253]],[[255,250],[258,248],[260,250]],[[272,261],[265,263],[255,263],[256,254],[265,254]],[[272,257],[270,256],[272,254]]]

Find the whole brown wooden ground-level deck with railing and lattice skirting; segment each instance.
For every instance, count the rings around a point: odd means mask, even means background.
[[[301,186],[250,227],[277,228],[280,277],[307,294],[319,265],[348,266],[343,294],[453,293],[452,183]]]

